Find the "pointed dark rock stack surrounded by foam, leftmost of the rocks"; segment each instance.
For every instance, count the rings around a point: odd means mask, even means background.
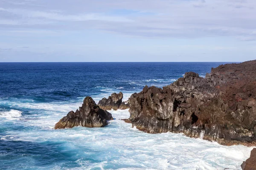
[[[86,97],[82,107],[76,112],[70,111],[55,125],[55,129],[72,128],[75,126],[104,127],[107,120],[113,120],[111,113],[102,110],[91,97]]]

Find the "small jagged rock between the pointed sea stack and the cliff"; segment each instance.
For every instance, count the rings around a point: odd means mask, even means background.
[[[111,96],[108,96],[108,99],[105,97],[101,99],[98,103],[99,107],[103,110],[111,110],[113,109],[116,111],[117,109],[127,109],[129,108],[128,104],[125,104],[125,102],[122,102],[123,94],[122,92],[119,92],[119,94],[113,93]]]

